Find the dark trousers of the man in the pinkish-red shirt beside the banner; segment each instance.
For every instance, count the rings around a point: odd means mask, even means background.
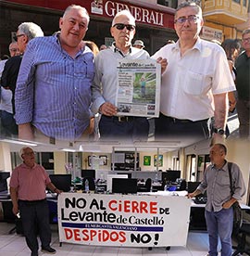
[[[41,239],[42,248],[49,247],[51,243],[51,229],[46,199],[39,201],[19,200],[19,211],[23,234],[31,252],[36,253],[39,250],[37,236]]]

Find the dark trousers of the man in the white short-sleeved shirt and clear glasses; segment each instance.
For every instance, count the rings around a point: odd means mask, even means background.
[[[204,139],[210,136],[209,126],[209,119],[192,122],[173,119],[160,113],[159,117],[155,119],[155,137],[156,140],[174,137]]]

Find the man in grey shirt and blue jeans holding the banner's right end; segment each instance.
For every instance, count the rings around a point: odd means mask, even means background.
[[[245,193],[243,175],[237,164],[231,165],[233,194],[231,195],[227,147],[215,144],[210,150],[211,163],[205,170],[201,184],[188,198],[206,190],[206,227],[209,236],[209,256],[218,255],[218,237],[221,241],[221,256],[231,256],[231,232],[233,224],[232,204],[241,200]]]

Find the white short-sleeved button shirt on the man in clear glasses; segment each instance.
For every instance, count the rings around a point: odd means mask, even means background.
[[[152,58],[167,58],[162,75],[160,111],[176,119],[205,120],[214,116],[213,95],[235,91],[223,48],[198,38],[181,56],[179,41],[165,45]]]

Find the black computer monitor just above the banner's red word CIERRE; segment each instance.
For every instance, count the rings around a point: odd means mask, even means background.
[[[137,179],[113,178],[112,193],[136,194],[137,193]]]

